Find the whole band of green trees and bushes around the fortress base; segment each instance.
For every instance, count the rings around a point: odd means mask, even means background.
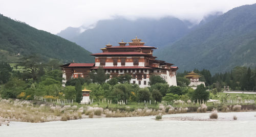
[[[158,76],[150,77],[150,87],[139,88],[131,84],[131,75],[120,75],[109,79],[109,75],[99,68],[90,72],[86,78],[70,79],[66,87],[62,87],[61,63],[58,60],[44,60],[40,56],[24,57],[11,67],[9,63],[0,62],[0,95],[2,98],[19,98],[34,100],[38,97],[45,99],[69,99],[80,102],[81,90],[86,86],[92,90],[91,99],[110,99],[114,102],[127,100],[128,102],[144,102],[162,100],[175,103],[177,100],[208,100],[221,98],[217,96],[222,92],[223,86],[230,86],[232,90],[255,90],[255,70],[246,67],[236,67],[230,72],[216,73],[211,76],[209,70],[194,70],[201,75],[200,80],[205,81],[206,87],[198,86],[196,90],[188,87],[189,80],[184,73],[177,75],[178,86],[169,86]],[[209,89],[209,91],[207,91]]]

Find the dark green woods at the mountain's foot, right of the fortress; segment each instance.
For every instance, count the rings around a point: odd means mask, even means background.
[[[194,72],[201,75],[200,81],[204,81],[206,87],[210,89],[216,88],[216,86],[224,87],[229,86],[231,90],[243,90],[243,91],[255,91],[256,90],[256,69],[250,67],[234,67],[231,71],[225,73],[215,73],[211,75],[207,69],[198,70],[194,69]],[[189,71],[177,74],[178,85],[185,83],[184,75]],[[183,83],[180,83],[179,79],[183,79]]]

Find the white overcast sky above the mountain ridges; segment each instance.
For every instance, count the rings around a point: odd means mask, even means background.
[[[0,0],[0,13],[56,34],[68,26],[87,26],[118,16],[133,20],[173,16],[196,23],[208,14],[254,3],[256,0]]]

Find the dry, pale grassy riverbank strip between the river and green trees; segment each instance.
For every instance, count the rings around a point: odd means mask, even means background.
[[[210,112],[216,108],[218,111],[254,111],[255,105],[239,105],[240,108],[234,110],[234,105],[216,106],[193,106],[193,107],[173,107],[171,105],[159,104],[153,108],[131,108],[130,106],[121,107],[99,107],[96,105],[53,105],[48,102],[0,99],[0,123],[7,124],[8,121],[21,122],[49,122],[67,121],[83,118],[102,118],[102,117],[139,117],[155,116],[164,114],[179,113],[203,113]]]

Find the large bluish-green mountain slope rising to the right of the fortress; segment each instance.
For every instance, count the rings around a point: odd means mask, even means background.
[[[256,4],[234,8],[205,22],[155,53],[179,66],[180,71],[256,67]]]

